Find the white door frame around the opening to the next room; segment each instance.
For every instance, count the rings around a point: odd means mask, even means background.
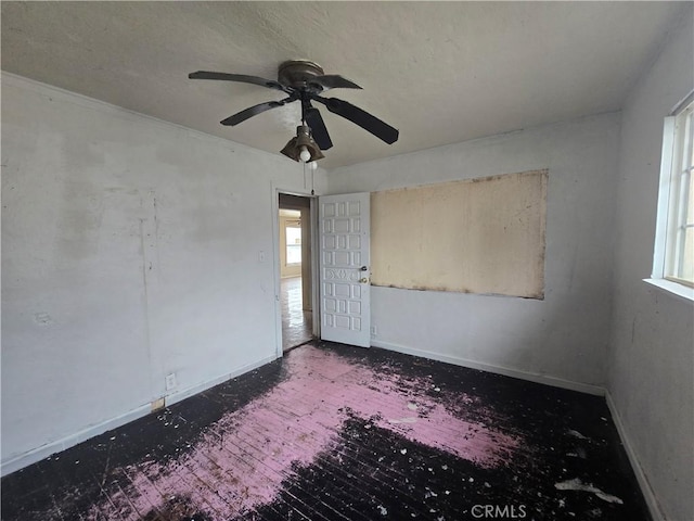
[[[313,336],[320,339],[320,296],[319,296],[319,242],[318,242],[318,195],[310,191],[297,190],[296,188],[272,187],[272,271],[274,276],[274,338],[275,355],[278,358],[284,355],[282,348],[282,302],[281,294],[281,266],[280,266],[280,194],[296,195],[308,199],[309,218],[311,220],[311,309],[313,320]],[[318,317],[318,319],[316,318]]]

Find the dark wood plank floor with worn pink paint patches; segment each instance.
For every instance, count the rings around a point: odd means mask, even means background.
[[[603,398],[321,342],[1,485],[7,521],[648,519]]]

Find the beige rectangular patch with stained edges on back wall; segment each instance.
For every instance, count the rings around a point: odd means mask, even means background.
[[[548,170],[374,192],[373,285],[544,298]]]

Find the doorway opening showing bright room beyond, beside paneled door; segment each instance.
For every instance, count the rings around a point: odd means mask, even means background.
[[[313,339],[310,198],[280,193],[282,351]]]

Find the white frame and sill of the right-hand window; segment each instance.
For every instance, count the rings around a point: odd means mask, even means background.
[[[686,218],[690,185],[694,175],[694,165],[683,165],[683,157],[691,161],[694,143],[694,91],[676,105],[665,118],[663,127],[663,154],[660,160],[660,187],[656,233],[653,253],[653,271],[650,279],[644,279],[658,288],[667,290],[684,298],[694,301],[694,284],[687,279],[679,278],[676,272],[678,257],[681,259],[684,238],[683,213]],[[687,118],[689,127],[686,125]],[[679,125],[684,122],[684,128]],[[689,131],[689,134],[686,134]],[[686,140],[689,138],[689,141]],[[686,147],[686,150],[683,150]],[[689,171],[685,171],[685,168]],[[685,190],[682,190],[686,183]],[[694,216],[689,216],[691,220]],[[686,225],[686,223],[685,223]]]

